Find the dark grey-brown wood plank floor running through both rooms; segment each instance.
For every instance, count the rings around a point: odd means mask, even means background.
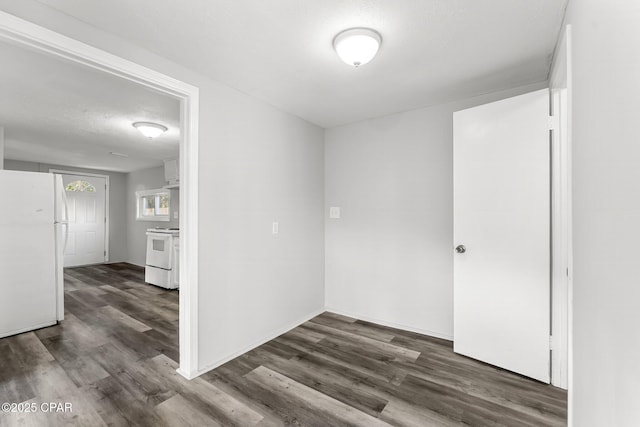
[[[38,408],[2,426],[566,425],[563,390],[331,313],[187,381],[177,291],[129,264],[67,269],[65,287],[63,322],[0,339],[0,403]]]

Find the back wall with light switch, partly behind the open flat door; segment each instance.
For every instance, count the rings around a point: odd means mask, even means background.
[[[326,303],[453,336],[453,112],[546,83],[326,131]]]

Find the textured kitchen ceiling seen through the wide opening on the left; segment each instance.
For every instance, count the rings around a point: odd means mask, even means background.
[[[178,157],[178,100],[8,43],[0,43],[0,58],[7,159],[130,172]],[[135,121],[169,130],[149,140],[131,126]]]

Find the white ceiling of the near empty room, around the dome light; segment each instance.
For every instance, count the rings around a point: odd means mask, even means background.
[[[567,0],[38,0],[323,127],[546,80]],[[382,34],[351,68],[346,28]]]

